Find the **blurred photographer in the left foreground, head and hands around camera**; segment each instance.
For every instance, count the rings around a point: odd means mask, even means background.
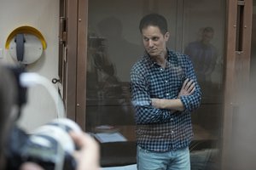
[[[0,169],[8,169],[9,154],[9,136],[13,133],[15,122],[20,116],[20,88],[17,82],[18,70],[11,69],[9,66],[0,65]],[[24,91],[23,91],[24,92]],[[23,96],[24,98],[24,96]],[[23,135],[23,134],[20,134]],[[25,134],[24,134],[25,135]],[[99,146],[96,140],[91,138],[86,133],[70,133],[75,144],[78,145],[79,150],[73,152],[73,156],[77,161],[77,170],[98,170],[99,166]],[[15,140],[18,143],[23,142],[16,136]],[[22,170],[42,170],[43,168],[33,162],[25,162],[20,166]]]

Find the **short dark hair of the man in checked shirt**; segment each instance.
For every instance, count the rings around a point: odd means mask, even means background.
[[[168,31],[166,18],[160,14],[147,14],[140,21],[139,29],[142,32],[143,28],[148,26],[158,26],[161,33],[164,35]]]

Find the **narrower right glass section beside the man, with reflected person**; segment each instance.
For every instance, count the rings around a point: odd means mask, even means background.
[[[183,7],[183,53],[192,60],[202,92],[201,107],[192,113],[194,132],[207,134],[191,144],[191,169],[219,169],[225,1],[185,0]]]

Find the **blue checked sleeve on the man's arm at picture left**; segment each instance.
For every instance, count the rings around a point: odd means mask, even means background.
[[[171,111],[151,105],[148,80],[143,73],[131,71],[131,94],[137,124],[170,122]]]

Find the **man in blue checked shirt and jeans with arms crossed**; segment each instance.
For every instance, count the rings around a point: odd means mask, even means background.
[[[166,19],[148,14],[140,22],[145,54],[131,69],[137,123],[138,170],[190,169],[191,111],[201,89],[189,57],[166,48]]]

